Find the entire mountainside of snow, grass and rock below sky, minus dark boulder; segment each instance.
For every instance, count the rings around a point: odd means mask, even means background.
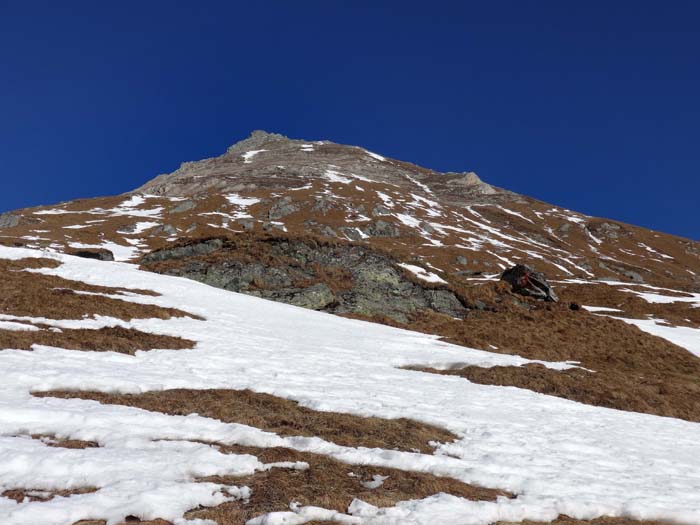
[[[698,243],[254,132],[0,244],[8,523],[700,522]]]

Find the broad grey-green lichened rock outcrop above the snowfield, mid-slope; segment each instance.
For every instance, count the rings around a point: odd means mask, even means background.
[[[155,251],[149,270],[335,314],[386,316],[406,323],[430,310],[464,317],[445,286],[412,278],[387,254],[351,243],[240,235]]]

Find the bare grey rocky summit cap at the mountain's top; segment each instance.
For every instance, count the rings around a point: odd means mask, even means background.
[[[209,191],[243,191],[259,187],[291,188],[300,178],[315,179],[352,173],[358,180],[411,188],[429,188],[456,203],[484,199],[510,200],[514,193],[483,182],[474,172],[439,173],[406,162],[385,159],[356,146],[330,141],[293,140],[277,133],[254,131],[219,157],[185,162],[176,171],[159,175],[136,193],[201,196]]]

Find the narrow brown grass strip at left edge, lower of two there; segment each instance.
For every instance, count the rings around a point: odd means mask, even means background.
[[[150,334],[120,326],[97,330],[64,328],[60,332],[47,329],[39,331],[0,330],[0,348],[30,350],[32,345],[134,355],[137,350],[194,348],[195,343],[181,337]]]

